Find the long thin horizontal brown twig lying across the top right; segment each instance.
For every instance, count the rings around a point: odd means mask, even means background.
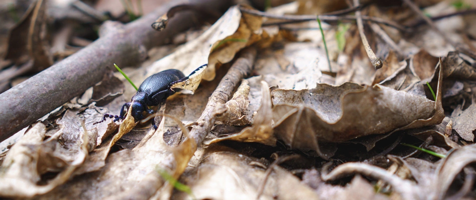
[[[353,16],[353,15],[343,15],[343,16],[335,16],[335,15],[278,15],[278,14],[271,14],[271,13],[267,13],[267,12],[262,12],[262,11],[259,11],[259,10],[248,9],[248,8],[245,8],[245,7],[240,7],[240,10],[245,12],[245,13],[249,13],[249,14],[253,14],[253,15],[265,16],[265,17],[275,18],[275,19],[289,20],[289,21],[285,21],[283,23],[296,23],[296,21],[312,21],[312,20],[317,20],[317,17],[319,17],[319,19],[321,19],[322,21],[346,21],[346,20],[355,20],[356,19],[356,16]],[[405,27],[405,26],[402,26],[402,25],[400,25],[400,24],[398,24],[394,21],[385,20],[385,19],[378,18],[378,17],[362,16],[362,20],[385,24],[385,25],[388,25],[390,27],[393,27],[393,28],[396,28],[396,29],[399,29],[399,30],[405,31],[405,32],[408,31],[407,27]],[[265,25],[269,25],[269,24],[264,23],[263,25],[265,26]]]

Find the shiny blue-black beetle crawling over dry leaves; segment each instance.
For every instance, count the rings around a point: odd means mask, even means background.
[[[114,121],[124,119],[124,115],[127,113],[125,110],[129,108],[132,109],[131,113],[135,121],[143,119],[144,111],[149,114],[154,113],[154,110],[149,109],[148,106],[159,105],[160,103],[165,102],[165,100],[167,100],[170,95],[180,90],[179,88],[176,88],[175,90],[172,89],[172,85],[177,82],[187,80],[188,78],[190,78],[191,75],[193,75],[205,66],[207,66],[207,64],[201,65],[193,72],[191,72],[188,76],[185,76],[180,70],[167,69],[147,77],[144,82],[140,84],[139,88],[137,89],[137,92],[134,94],[134,96],[132,96],[131,101],[122,105],[121,112],[119,113],[119,115],[104,114],[103,120],[98,121],[96,123],[105,121],[106,117],[114,117]]]

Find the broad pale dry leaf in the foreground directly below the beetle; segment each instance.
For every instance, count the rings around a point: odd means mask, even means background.
[[[179,125],[179,127],[183,130],[186,129],[183,125]],[[105,165],[100,167],[97,172],[76,176],[61,187],[39,195],[37,198],[149,199],[164,183],[158,174],[158,169],[166,170],[174,178],[178,178],[177,174],[180,174],[187,166],[187,157],[193,155],[194,151],[190,149],[196,148],[193,140],[188,141],[191,139],[185,139],[176,148],[169,147],[163,139],[163,133],[169,131],[164,128],[164,120],[158,125],[157,130],[152,128],[150,131],[149,134],[152,136],[141,141],[133,149],[111,153]],[[186,133],[184,134],[186,135]],[[104,144],[109,145],[110,143]]]

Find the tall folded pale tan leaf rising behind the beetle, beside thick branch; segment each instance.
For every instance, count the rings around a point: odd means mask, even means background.
[[[254,42],[256,39],[251,37],[260,28],[261,17],[242,14],[237,6],[230,7],[202,35],[154,62],[147,69],[146,76],[171,67],[187,74],[195,70],[197,65],[208,63],[203,79],[212,80],[215,77],[215,65],[230,61],[236,52]]]

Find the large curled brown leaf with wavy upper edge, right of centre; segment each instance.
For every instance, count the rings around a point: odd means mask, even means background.
[[[273,90],[276,136],[294,148],[316,150],[318,141],[342,142],[370,134],[438,124],[442,67],[436,102],[385,86],[318,84],[309,90]],[[326,157],[326,154],[319,153]]]

